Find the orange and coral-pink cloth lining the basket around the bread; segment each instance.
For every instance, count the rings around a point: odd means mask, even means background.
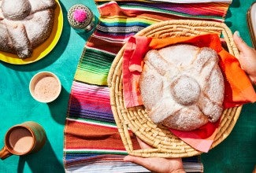
[[[220,57],[219,65],[224,75],[224,109],[256,101],[256,94],[247,74],[240,68],[239,61],[221,46],[216,34],[191,37],[154,39],[143,36],[131,37],[124,49],[123,91],[124,105],[134,107],[143,105],[139,92],[139,76],[143,69],[143,57],[148,50],[158,50],[165,46],[186,43],[198,47],[210,47]],[[208,152],[217,133],[217,123],[207,123],[195,131],[170,129],[188,145],[202,152]]]

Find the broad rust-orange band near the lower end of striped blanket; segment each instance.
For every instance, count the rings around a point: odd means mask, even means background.
[[[113,149],[125,151],[121,136],[116,127],[106,127],[91,123],[67,121],[69,134],[66,135],[66,149]],[[86,125],[86,131],[84,126]],[[132,131],[129,131],[134,149],[140,149],[139,143]],[[108,145],[102,145],[108,144]]]

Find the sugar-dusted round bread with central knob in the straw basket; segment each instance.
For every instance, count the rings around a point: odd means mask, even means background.
[[[154,123],[191,131],[220,118],[224,79],[214,50],[168,46],[150,50],[144,62],[139,86]]]

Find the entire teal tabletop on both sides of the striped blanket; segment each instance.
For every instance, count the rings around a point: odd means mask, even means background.
[[[226,24],[232,32],[238,30],[251,46],[246,13],[254,0],[233,0]],[[76,67],[89,34],[78,34],[70,28],[67,11],[77,3],[90,7],[98,18],[93,0],[60,1],[64,18],[61,38],[46,57],[32,64],[0,62],[0,148],[9,127],[32,120],[40,123],[47,135],[46,145],[38,153],[28,156],[10,156],[0,160],[0,172],[64,172],[63,131],[69,93]],[[1,56],[1,53],[0,53]],[[58,75],[62,90],[51,103],[35,101],[29,93],[29,81],[35,73],[50,71]],[[224,142],[209,153],[202,154],[205,172],[251,172],[256,164],[256,105],[244,105],[236,127]]]

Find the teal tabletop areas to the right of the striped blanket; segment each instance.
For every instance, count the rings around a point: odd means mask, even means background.
[[[255,0],[233,0],[225,23],[251,46],[247,10]],[[205,172],[252,172],[256,165],[256,105],[243,105],[231,134],[209,153],[202,154]]]

